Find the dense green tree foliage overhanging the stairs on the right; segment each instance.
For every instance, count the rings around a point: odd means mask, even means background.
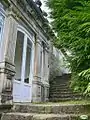
[[[68,49],[74,90],[90,92],[90,0],[48,0],[58,48]]]

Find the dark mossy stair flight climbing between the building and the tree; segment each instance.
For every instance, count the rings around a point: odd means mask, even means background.
[[[64,74],[57,76],[53,81],[50,82],[50,101],[69,101],[69,100],[80,100],[82,95],[77,92],[72,92],[69,88],[70,74]]]

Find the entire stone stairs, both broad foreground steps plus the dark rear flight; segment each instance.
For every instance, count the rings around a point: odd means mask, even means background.
[[[81,115],[90,120],[90,102],[70,103],[81,97],[69,89],[69,79],[70,75],[56,77],[51,84],[50,100],[59,102],[0,105],[0,120],[80,120]]]

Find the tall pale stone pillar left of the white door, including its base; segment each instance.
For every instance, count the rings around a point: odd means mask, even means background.
[[[14,56],[17,37],[17,22],[11,14],[5,18],[3,43],[0,51],[0,103],[12,103]]]

